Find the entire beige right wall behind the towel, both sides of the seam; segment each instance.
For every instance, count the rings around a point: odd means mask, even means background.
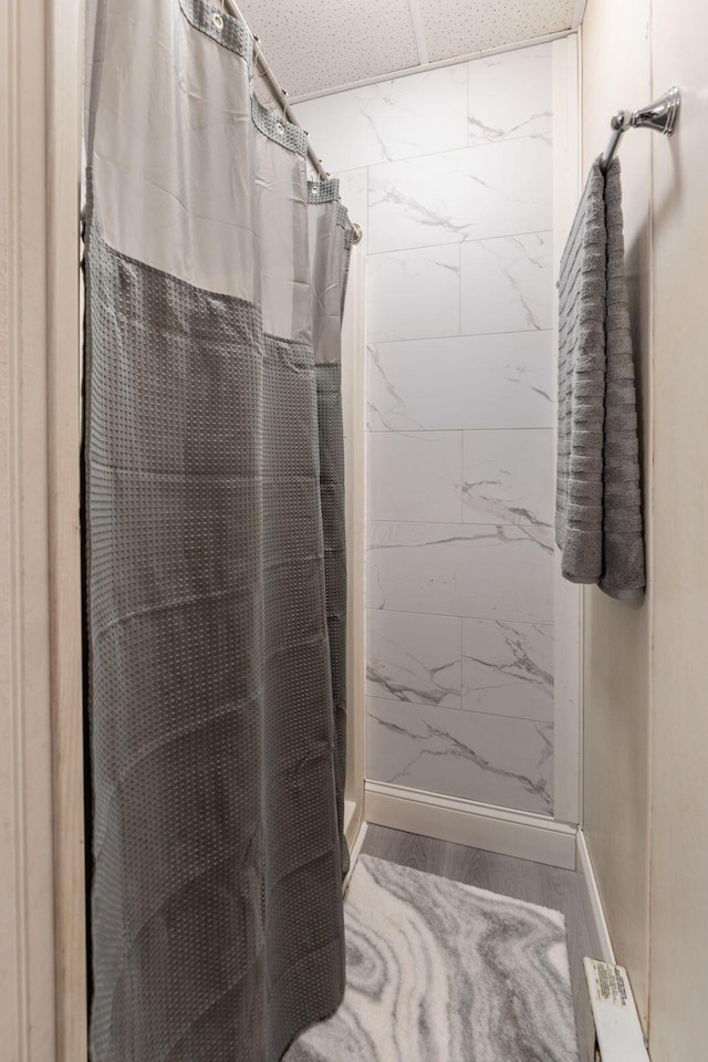
[[[698,0],[590,0],[583,23],[586,164],[617,107],[684,101],[670,142],[622,145],[648,594],[591,594],[585,617],[586,829],[653,1062],[701,1062],[708,1040],[707,39]]]

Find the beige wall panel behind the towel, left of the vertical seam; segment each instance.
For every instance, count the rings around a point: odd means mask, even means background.
[[[605,147],[610,118],[652,95],[649,0],[590,0],[583,22],[583,169]],[[650,657],[650,135],[622,145],[625,241],[638,367],[649,595],[637,605],[585,590],[584,827],[617,961],[643,1017],[648,986]]]

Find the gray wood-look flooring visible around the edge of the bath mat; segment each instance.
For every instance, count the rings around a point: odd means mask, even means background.
[[[439,874],[455,882],[561,910],[565,916],[568,930],[581,1062],[592,1062],[595,1032],[583,972],[583,957],[592,955],[592,948],[575,871],[496,855],[479,848],[468,848],[464,844],[450,844],[447,841],[375,825],[368,826],[362,852],[364,855],[373,855],[379,860],[426,871],[428,874]]]

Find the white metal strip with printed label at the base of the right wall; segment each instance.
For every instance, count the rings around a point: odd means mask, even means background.
[[[622,966],[585,959],[585,979],[595,1021],[595,1059],[649,1062],[632,986]]]

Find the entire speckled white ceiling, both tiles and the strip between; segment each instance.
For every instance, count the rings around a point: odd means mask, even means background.
[[[576,29],[584,0],[239,0],[291,97]]]

